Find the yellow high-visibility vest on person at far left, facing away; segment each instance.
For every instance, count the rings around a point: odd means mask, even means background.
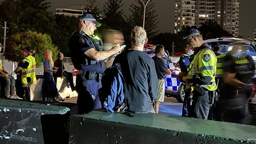
[[[28,87],[37,82],[35,77],[35,57],[29,55],[22,59],[22,61],[29,63],[28,68],[23,68],[21,74],[22,87]],[[28,83],[27,78],[29,77],[31,81]]]

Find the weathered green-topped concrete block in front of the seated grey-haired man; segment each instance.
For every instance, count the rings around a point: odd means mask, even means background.
[[[70,116],[70,144],[256,144],[256,127],[166,114]]]

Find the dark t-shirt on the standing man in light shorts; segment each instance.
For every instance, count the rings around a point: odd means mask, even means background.
[[[163,79],[165,71],[168,69],[167,65],[165,65],[165,61],[162,58],[154,56],[152,59],[155,62],[156,74],[158,79]]]

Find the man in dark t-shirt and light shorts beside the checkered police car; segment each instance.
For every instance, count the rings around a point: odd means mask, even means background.
[[[158,113],[158,107],[161,102],[163,102],[165,98],[165,82],[164,82],[164,76],[167,74],[171,74],[171,71],[168,69],[167,65],[165,65],[165,62],[161,57],[164,56],[164,46],[158,45],[156,46],[155,53],[156,55],[152,57],[155,63],[156,68],[156,74],[158,77],[158,96],[156,98],[156,106],[155,111]]]

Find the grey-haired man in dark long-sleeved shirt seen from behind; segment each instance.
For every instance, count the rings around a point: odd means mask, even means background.
[[[155,113],[158,78],[153,59],[143,52],[147,41],[144,28],[135,26],[130,37],[132,48],[117,55],[113,63],[122,72],[126,83],[126,105],[133,113]]]

